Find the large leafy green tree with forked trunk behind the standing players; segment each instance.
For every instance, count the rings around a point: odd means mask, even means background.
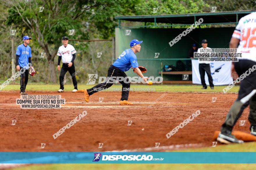
[[[38,43],[35,45],[40,46],[46,53],[51,81],[56,83],[54,57],[61,45],[61,37],[67,35],[68,30],[75,29],[72,39],[88,39],[89,33],[95,30],[97,33],[92,38],[108,39],[114,35],[117,26],[114,16],[134,14],[136,3],[139,1],[4,0],[3,5],[8,7],[7,25],[23,25],[33,32],[32,38]],[[104,4],[106,6],[102,8]],[[40,11],[40,7],[44,9]],[[96,11],[98,13],[88,19]]]

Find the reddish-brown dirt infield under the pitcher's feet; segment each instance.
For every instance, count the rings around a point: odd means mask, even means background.
[[[0,92],[0,151],[164,151],[211,146],[237,94],[130,92],[134,105],[119,105],[121,92],[98,92],[85,103],[83,93],[61,93],[61,109],[20,109],[19,92]],[[58,94],[29,92],[29,94]],[[165,95],[152,107],[150,104]],[[99,97],[103,102],[99,103]],[[217,97],[212,103],[212,97]],[[84,110],[88,114],[54,139],[53,134]],[[169,139],[166,134],[200,110],[200,115]],[[249,132],[248,108],[235,130]],[[16,125],[11,125],[17,120]],[[132,120],[131,126],[127,126]],[[160,142],[159,148],[154,148]],[[40,149],[41,143],[45,148]],[[98,148],[98,143],[104,143]]]

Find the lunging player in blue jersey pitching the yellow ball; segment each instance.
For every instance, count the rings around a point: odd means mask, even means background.
[[[122,97],[120,100],[120,105],[132,105],[133,103],[127,101],[129,96],[129,88],[130,83],[127,81],[120,81],[121,79],[124,80],[127,75],[125,74],[130,68],[133,68],[134,71],[143,78],[143,80],[148,84],[147,79],[141,73],[141,70],[138,68],[137,57],[135,55],[136,52],[141,51],[141,44],[142,41],[138,41],[136,39],[130,42],[129,49],[122,52],[122,54],[118,57],[118,59],[109,67],[108,70],[108,77],[106,82],[97,84],[93,88],[85,89],[84,90],[84,99],[86,102],[89,102],[90,95],[96,93],[100,90],[107,89],[115,83],[115,81],[111,81],[111,78],[114,80],[118,80],[119,83],[122,84]],[[117,78],[119,77],[119,78]],[[89,83],[89,82],[88,82]]]

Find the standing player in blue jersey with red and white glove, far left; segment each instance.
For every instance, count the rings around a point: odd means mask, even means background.
[[[16,50],[16,69],[21,70],[20,78],[20,94],[27,95],[25,92],[26,85],[29,80],[29,67],[28,64],[31,63],[31,48],[29,47],[29,42],[31,38],[29,36],[24,36],[24,43],[19,45]],[[32,65],[32,63],[31,63]],[[24,71],[25,70],[25,71]]]

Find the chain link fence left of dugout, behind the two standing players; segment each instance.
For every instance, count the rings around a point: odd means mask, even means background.
[[[109,66],[112,64],[113,56],[113,42],[112,41],[90,41],[90,42],[77,42],[69,41],[69,44],[73,45],[77,51],[76,59],[74,60],[75,70],[77,71],[76,78],[78,83],[87,83],[88,74],[98,74],[99,76],[106,76]],[[15,47],[15,52],[16,52]],[[59,83],[60,71],[57,69],[58,56],[54,57],[55,73],[52,73],[49,69],[49,61],[47,56],[42,50],[33,50],[32,52],[32,64],[35,68],[35,75],[29,76],[29,83],[53,83],[51,80],[51,74],[56,74],[57,83]],[[0,61],[0,81],[3,83],[12,76],[12,59],[10,54],[1,55]],[[15,57],[16,58],[16,57]],[[16,59],[15,59],[15,72]],[[62,61],[60,66],[62,66]],[[78,71],[79,70],[79,71]],[[65,79],[70,76],[70,73],[66,73]],[[15,83],[19,83],[20,78],[15,80]],[[72,84],[72,80],[66,81],[65,84]]]

